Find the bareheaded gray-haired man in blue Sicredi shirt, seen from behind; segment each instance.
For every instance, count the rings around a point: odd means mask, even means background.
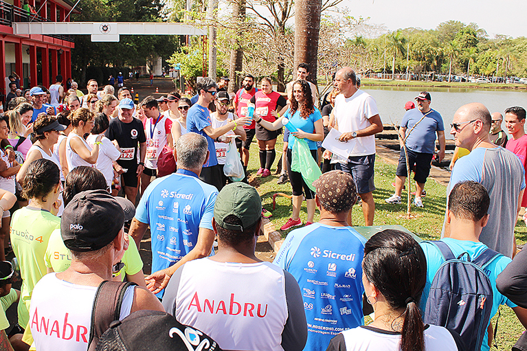
[[[182,135],[176,144],[177,172],[150,183],[137,205],[130,235],[139,247],[150,226],[153,274],[146,280],[158,297],[181,264],[212,252],[218,191],[198,178],[208,157],[204,137]]]

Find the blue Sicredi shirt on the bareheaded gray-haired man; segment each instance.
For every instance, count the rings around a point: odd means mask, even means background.
[[[148,185],[135,219],[150,225],[152,272],[172,266],[189,253],[198,241],[199,228],[212,230],[217,195],[214,186],[188,170],[177,170]]]

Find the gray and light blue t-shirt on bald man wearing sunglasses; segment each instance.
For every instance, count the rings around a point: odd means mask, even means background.
[[[524,174],[524,166],[513,152],[502,147],[475,148],[458,159],[447,188],[450,194],[453,186],[461,181],[477,181],[485,187],[491,198],[490,216],[480,241],[508,257],[513,256],[518,196],[525,188]],[[445,225],[441,236],[444,234]]]

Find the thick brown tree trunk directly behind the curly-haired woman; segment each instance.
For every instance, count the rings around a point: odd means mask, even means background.
[[[317,85],[317,56],[322,0],[295,1],[295,64],[309,65],[308,79]]]

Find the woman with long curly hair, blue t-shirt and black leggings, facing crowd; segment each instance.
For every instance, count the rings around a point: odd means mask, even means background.
[[[271,111],[275,117],[278,117],[276,111]],[[302,206],[302,196],[306,196],[307,203],[307,222],[306,225],[313,223],[313,216],[315,215],[315,192],[313,192],[302,179],[300,172],[293,172],[291,170],[291,152],[297,138],[305,139],[311,150],[313,159],[317,159],[317,141],[324,139],[324,126],[322,125],[322,115],[320,111],[313,104],[313,97],[311,95],[311,87],[305,80],[297,80],[293,84],[293,100],[289,109],[282,117],[279,117],[275,122],[268,122],[261,117],[256,117],[256,123],[268,129],[269,131],[276,131],[282,126],[291,131],[289,137],[289,146],[287,149],[287,172],[291,187],[293,188],[293,214],[287,220],[280,230],[287,230],[292,227],[302,225],[300,220],[300,207]],[[303,192],[302,192],[303,190]]]

